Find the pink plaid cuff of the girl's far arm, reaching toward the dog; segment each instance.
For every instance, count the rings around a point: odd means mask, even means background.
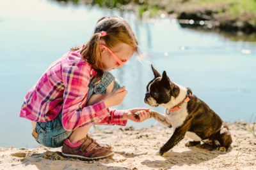
[[[108,110],[108,109],[107,109]],[[109,117],[105,117],[104,120],[99,122],[99,125],[123,125],[127,124],[127,120],[124,120],[124,110],[109,110]]]

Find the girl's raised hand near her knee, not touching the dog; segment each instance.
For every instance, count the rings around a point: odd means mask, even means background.
[[[109,93],[106,96],[106,98],[103,100],[106,108],[121,104],[126,94],[127,94],[127,90],[125,90],[124,86],[121,87],[120,89],[117,89]]]

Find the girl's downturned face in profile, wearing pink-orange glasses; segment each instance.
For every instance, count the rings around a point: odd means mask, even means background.
[[[105,43],[101,43],[106,45]],[[101,61],[103,65],[103,69],[106,71],[111,71],[112,69],[117,69],[118,66],[122,67],[124,64],[119,64],[115,57],[111,55],[106,46],[100,45],[101,52]],[[122,61],[129,60],[134,53],[134,48],[125,43],[120,43],[116,45],[114,48],[110,49],[115,55]]]

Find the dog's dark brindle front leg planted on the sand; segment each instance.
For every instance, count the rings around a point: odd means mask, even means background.
[[[184,139],[184,136],[186,134],[186,130],[182,127],[178,127],[173,132],[172,137],[164,144],[164,146],[159,150],[157,155],[163,156],[164,153],[168,152],[168,150],[172,149],[173,146],[177,145],[182,139]]]

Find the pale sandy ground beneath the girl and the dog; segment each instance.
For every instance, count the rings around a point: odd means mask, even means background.
[[[164,157],[155,155],[172,136],[165,127],[118,127],[100,129],[90,134],[97,141],[112,144],[113,159],[84,162],[61,157],[61,148],[0,148],[1,169],[256,169],[256,138],[248,124],[228,124],[232,150],[219,152],[187,148],[185,137]],[[253,127],[253,124],[250,125]]]

